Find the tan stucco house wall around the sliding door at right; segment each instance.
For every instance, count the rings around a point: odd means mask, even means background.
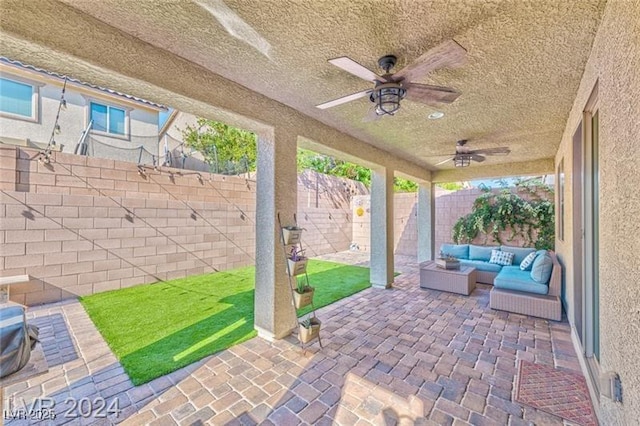
[[[624,403],[601,397],[606,425],[640,419],[640,3],[610,1],[567,120],[556,167],[564,159],[565,239],[556,241],[573,294],[572,137],[594,85],[600,111],[600,367],[622,380]],[[578,239],[578,243],[579,243]],[[575,301],[569,298],[569,318]]]

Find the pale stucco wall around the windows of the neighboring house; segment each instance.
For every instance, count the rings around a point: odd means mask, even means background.
[[[16,74],[3,71],[3,77],[11,79]],[[32,142],[47,144],[55,123],[58,104],[62,93],[62,83],[45,82],[39,78],[20,76],[24,82],[33,82],[39,86],[39,112],[37,122],[0,116],[0,136],[14,139],[29,139]],[[145,149],[158,153],[158,112],[150,108],[134,108],[134,104],[125,105],[117,97],[106,100],[103,94],[95,91],[79,92],[74,84],[68,84],[65,90],[67,109],[60,112],[58,124],[62,132],[56,135],[57,144],[63,145],[63,152],[73,152],[82,131],[89,123],[88,105],[93,99],[102,104],[114,105],[129,111],[129,135],[126,138],[91,133],[91,138],[120,148],[133,148],[143,145]],[[103,149],[112,159],[128,159],[126,151]]]

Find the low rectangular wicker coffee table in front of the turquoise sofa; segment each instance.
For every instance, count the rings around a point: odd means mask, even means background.
[[[442,269],[432,260],[420,264],[420,287],[469,295],[476,288],[476,268]]]

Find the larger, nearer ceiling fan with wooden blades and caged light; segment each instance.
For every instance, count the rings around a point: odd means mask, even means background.
[[[316,107],[320,109],[331,108],[366,96],[374,104],[369,118],[377,119],[384,115],[394,115],[400,108],[400,101],[405,97],[411,101],[431,106],[451,103],[460,96],[460,92],[457,90],[450,87],[414,83],[413,81],[442,67],[462,65],[466,59],[466,53],[467,51],[458,43],[447,40],[394,74],[391,74],[390,71],[395,66],[397,58],[393,55],[383,56],[378,60],[378,65],[384,70],[383,75],[374,73],[346,56],[330,59],[329,63],[375,85],[373,89],[343,96],[316,105]]]

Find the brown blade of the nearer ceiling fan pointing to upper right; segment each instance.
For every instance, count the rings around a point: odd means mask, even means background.
[[[419,80],[429,72],[442,67],[457,67],[463,65],[467,51],[453,40],[447,40],[430,49],[413,63],[407,65],[393,75],[393,79],[414,81]]]

